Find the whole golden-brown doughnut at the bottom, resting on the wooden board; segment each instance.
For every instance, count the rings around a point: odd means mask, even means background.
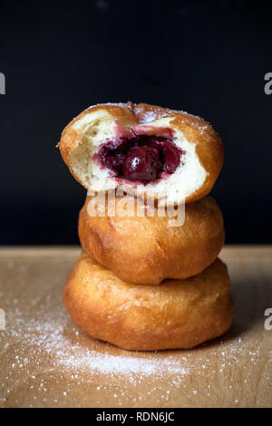
[[[156,287],[121,281],[83,254],[64,288],[73,321],[94,339],[124,349],[191,348],[225,333],[234,315],[227,266]]]

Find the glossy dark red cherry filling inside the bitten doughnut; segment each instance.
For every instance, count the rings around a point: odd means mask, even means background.
[[[174,173],[180,165],[182,150],[162,136],[140,135],[120,138],[102,145],[99,162],[118,178],[151,181],[161,173]]]

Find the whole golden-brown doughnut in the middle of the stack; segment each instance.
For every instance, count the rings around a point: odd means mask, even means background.
[[[130,205],[131,216],[120,216],[119,203],[126,206],[127,198],[107,198],[98,216],[94,198],[87,197],[79,217],[83,249],[124,281],[156,285],[165,278],[184,279],[199,274],[218,257],[225,232],[214,198],[186,204],[180,226],[170,226],[166,211],[159,216],[159,208],[150,212],[136,201]]]

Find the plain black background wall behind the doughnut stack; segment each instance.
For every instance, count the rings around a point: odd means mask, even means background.
[[[54,148],[99,102],[148,102],[219,131],[213,195],[228,243],[271,243],[271,6],[262,2],[1,2],[0,244],[77,243],[85,190]]]

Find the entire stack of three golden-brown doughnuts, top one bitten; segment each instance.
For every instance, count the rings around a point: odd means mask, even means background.
[[[73,321],[129,350],[191,348],[225,333],[234,315],[218,258],[225,232],[208,195],[224,154],[209,123],[144,103],[101,104],[71,121],[58,146],[88,189],[83,253],[63,293]]]

